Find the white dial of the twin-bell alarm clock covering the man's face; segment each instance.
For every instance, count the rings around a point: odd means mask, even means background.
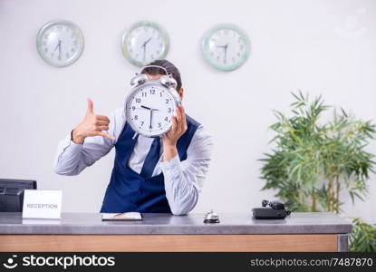
[[[159,136],[171,128],[171,116],[178,106],[178,93],[159,83],[144,83],[130,93],[126,102],[127,121],[147,137]]]

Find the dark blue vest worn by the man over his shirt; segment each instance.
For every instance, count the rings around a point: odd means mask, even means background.
[[[178,139],[177,149],[180,160],[187,159],[187,150],[199,123],[187,115],[188,130]],[[128,165],[137,138],[126,122],[121,136],[115,144],[115,163],[111,180],[106,189],[101,212],[171,212],[166,199],[163,173],[144,178],[131,170]]]

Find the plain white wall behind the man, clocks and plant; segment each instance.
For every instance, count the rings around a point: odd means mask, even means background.
[[[66,68],[43,63],[35,49],[39,28],[59,18],[78,24],[86,42],[82,58]],[[56,175],[53,156],[81,121],[87,97],[98,113],[122,106],[137,69],[121,54],[121,34],[140,19],[168,30],[168,59],[181,70],[188,114],[215,135],[197,212],[250,212],[272,197],[260,191],[257,159],[273,136],[272,110],[286,111],[290,92],[322,93],[376,121],[376,1],[1,0],[0,177],[63,189],[64,211],[100,209],[113,152],[77,177]],[[224,22],[244,28],[252,47],[246,64],[230,73],[210,68],[199,51],[207,28]],[[375,221],[375,183],[372,176],[366,204],[352,207],[347,199],[349,215]]]

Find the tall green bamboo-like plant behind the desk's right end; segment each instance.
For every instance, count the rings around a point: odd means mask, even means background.
[[[367,194],[366,181],[374,172],[375,161],[365,148],[376,134],[375,125],[335,108],[333,117],[323,121],[323,113],[332,107],[321,96],[310,102],[302,92],[292,94],[292,116],[275,112],[278,121],[271,126],[276,133],[271,141],[274,147],[262,159],[263,189],[276,189],[276,197],[292,211],[340,213],[342,191],[350,195],[352,203]],[[354,229],[370,228],[359,225]]]

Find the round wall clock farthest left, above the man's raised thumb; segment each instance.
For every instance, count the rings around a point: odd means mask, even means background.
[[[46,63],[67,66],[80,58],[84,47],[83,34],[75,24],[53,21],[39,31],[36,47]]]

